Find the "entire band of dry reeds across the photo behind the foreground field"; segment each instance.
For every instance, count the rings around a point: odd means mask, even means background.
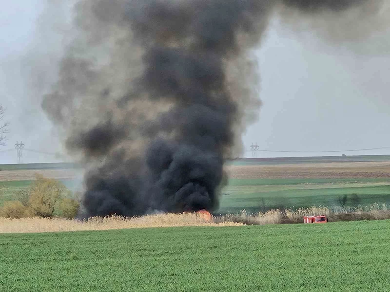
[[[341,207],[311,207],[297,210],[271,210],[266,213],[249,214],[242,210],[240,214],[229,214],[206,219],[201,214],[156,214],[142,217],[125,218],[120,216],[93,217],[88,220],[70,220],[62,218],[20,218],[0,217],[0,233],[40,233],[82,230],[110,230],[154,227],[183,226],[242,226],[283,223],[303,223],[303,216],[326,215],[330,221],[382,220],[390,219],[390,208],[386,204],[374,204],[369,207],[346,211]]]

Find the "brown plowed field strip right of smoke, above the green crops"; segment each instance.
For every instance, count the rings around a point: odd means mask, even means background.
[[[232,179],[382,178],[390,177],[390,162],[230,165],[226,170]]]

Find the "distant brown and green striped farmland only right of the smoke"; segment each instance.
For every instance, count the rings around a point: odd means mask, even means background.
[[[247,165],[228,165],[230,180],[222,190],[216,213],[237,213],[242,209],[255,213],[312,205],[332,207],[340,205],[340,198],[345,195],[349,206],[390,203],[388,156],[355,157],[355,162],[342,159],[346,158],[339,157],[337,162],[320,157],[272,159],[273,163],[280,162],[272,165],[250,160]]]

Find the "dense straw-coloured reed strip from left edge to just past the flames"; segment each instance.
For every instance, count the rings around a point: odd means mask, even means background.
[[[0,218],[0,233],[38,233],[81,230],[110,230],[127,228],[181,227],[181,226],[240,226],[240,222],[208,221],[197,214],[158,214],[125,218],[119,216],[94,217],[88,220],[63,218]]]

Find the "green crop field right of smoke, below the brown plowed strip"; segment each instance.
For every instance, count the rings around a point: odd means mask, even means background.
[[[332,207],[339,205],[344,195],[351,198],[352,194],[357,195],[357,200],[347,204],[369,206],[377,202],[390,204],[390,178],[232,179],[222,193],[217,213],[237,213],[242,209],[255,213],[313,205]]]

